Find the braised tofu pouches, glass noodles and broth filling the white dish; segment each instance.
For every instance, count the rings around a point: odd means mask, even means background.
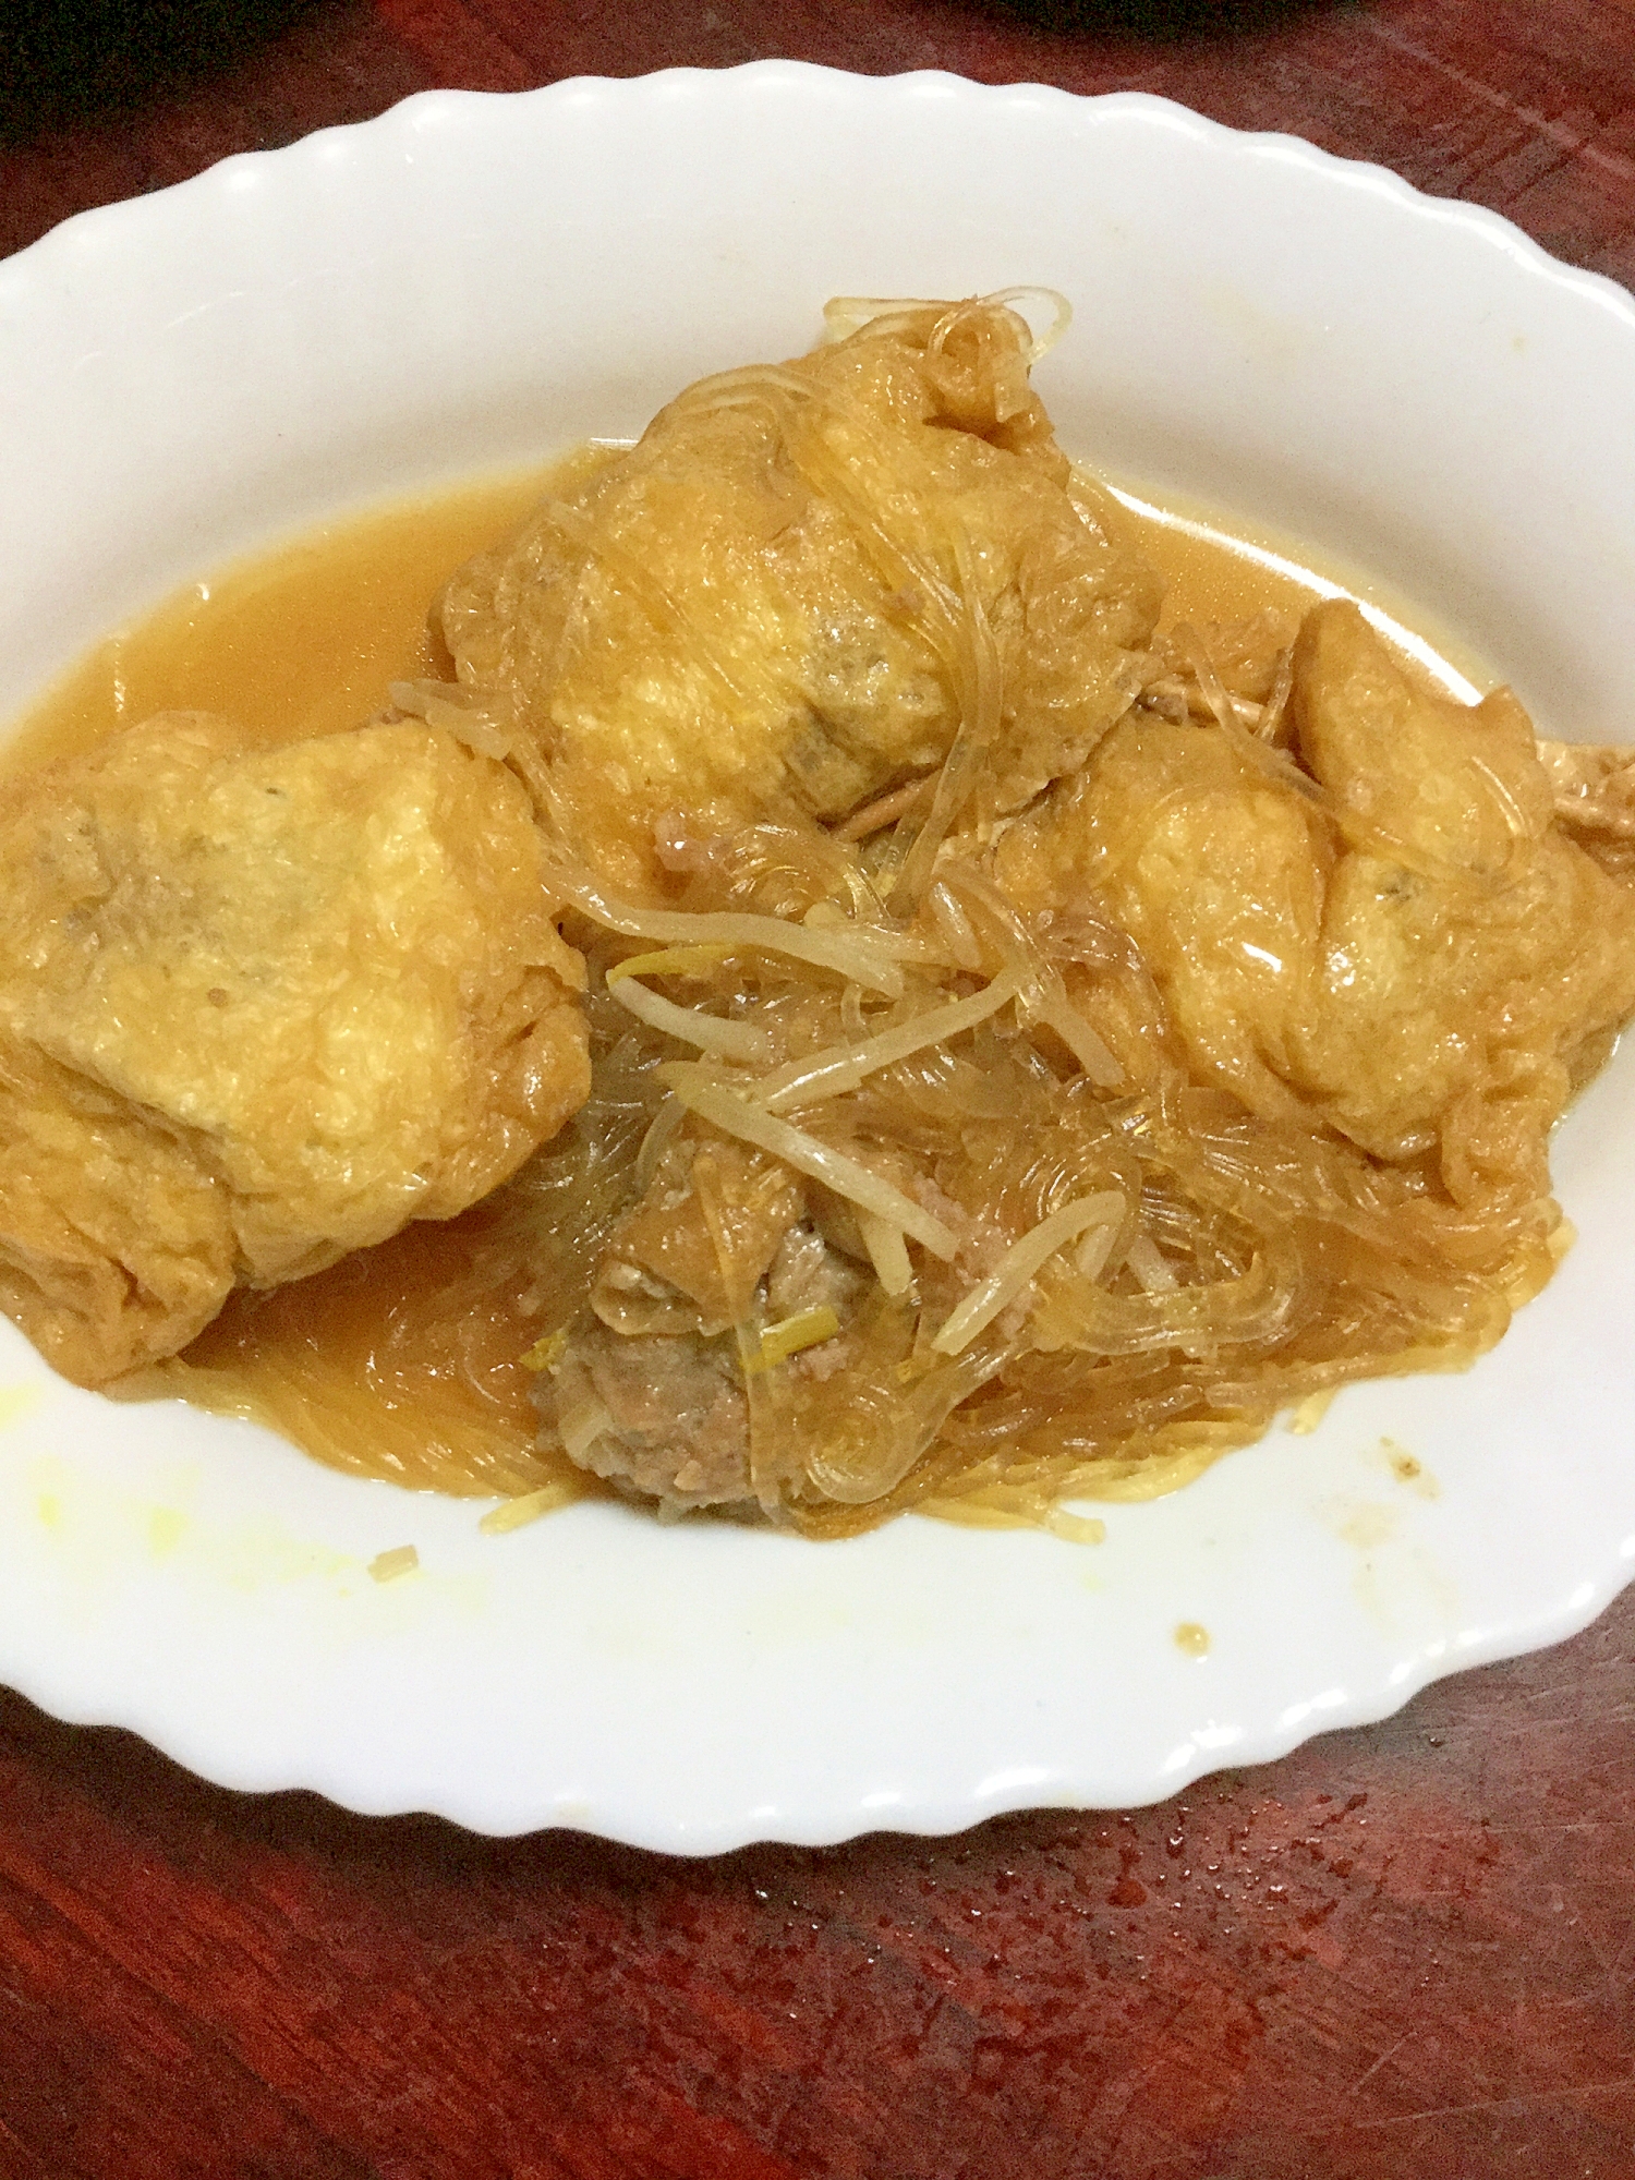
[[[78,1376],[159,1358],[120,1391],[519,1509],[613,1489],[826,1537],[1147,1495],[1502,1336],[1570,1234],[1550,1127],[1635,1009],[1626,754],[1454,702],[1347,600],[1188,619],[1057,449],[1012,301],[831,305],[813,355],[578,458],[366,728],[275,759],[159,722],[11,791],[13,833],[68,837],[98,767],[148,780],[111,968],[7,857],[0,1025],[72,1127],[122,1101],[155,1203],[231,1225],[155,1308],[131,1234],[159,1225],[98,1199],[124,1286],[72,1319]],[[419,924],[301,876],[329,752],[371,737],[464,767],[460,852],[482,833]],[[229,918],[218,970],[218,911],[131,903],[192,852],[201,765],[246,800],[275,761],[310,833],[262,883],[294,907]],[[301,1068],[177,1005],[342,922],[382,1007],[436,933],[464,1038],[429,1092],[397,1053],[447,1040],[355,1046],[366,1210],[253,1088]],[[268,1053],[312,1049],[318,985]]]

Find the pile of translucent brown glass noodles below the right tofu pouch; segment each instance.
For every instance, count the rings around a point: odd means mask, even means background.
[[[789,1114],[824,1147],[918,1188],[961,1236],[961,1254],[940,1262],[911,1247],[913,1291],[868,1291],[831,1376],[746,1369],[750,1480],[776,1519],[837,1537],[909,1506],[1044,1524],[1062,1500],[1147,1498],[1349,1380],[1463,1369],[1548,1280],[1552,1203],[1495,1190],[1491,1203],[1454,1206],[1426,1168],[1384,1166],[1317,1125],[1249,1116],[1227,1092],[1188,1079],[1123,931],[1090,913],[1062,931],[1027,931],[1020,918],[1007,929],[983,913],[996,894],[981,852],[946,855],[940,883],[970,907],[964,964],[931,907],[909,924],[859,909],[872,892],[868,852],[815,824],[715,841],[682,913],[863,924],[896,946],[905,988],[896,998],[863,994],[772,950],[700,953],[669,981],[674,996],[754,1022],[772,1066],[674,1068],[676,1044],[654,1036],[647,1110],[658,1114],[665,1077],[708,1073],[752,1097],[754,1083],[798,1073],[807,1055],[863,1046],[1018,977],[1022,944],[1070,990],[1092,1036],[1103,1009],[1140,1022],[1151,1079],[1092,1081],[1018,998],[966,1036]],[[600,898],[589,876],[565,872],[565,885]],[[593,985],[641,944],[589,918],[571,935],[591,955]],[[630,1053],[626,1020],[615,1027]],[[682,1131],[695,1149],[719,1140],[698,1116]],[[589,1164],[582,1184],[591,1188]],[[940,1325],[983,1269],[1062,1206],[1107,1192],[1127,1214],[1092,1273],[1066,1247],[977,1341],[955,1356],[935,1352]],[[754,1352],[756,1312],[750,1295],[737,1325],[743,1354]]]

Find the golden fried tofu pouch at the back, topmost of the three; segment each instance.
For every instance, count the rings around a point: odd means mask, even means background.
[[[704,379],[440,602],[460,682],[597,874],[654,826],[841,818],[955,735],[1020,809],[1142,687],[1158,573],[1055,445],[996,303]]]

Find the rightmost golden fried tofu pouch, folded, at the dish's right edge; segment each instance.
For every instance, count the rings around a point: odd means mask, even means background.
[[[1635,1009],[1635,889],[1554,822],[1517,700],[1426,693],[1349,602],[1306,617],[1291,715],[1304,780],[1121,724],[1003,841],[1009,892],[1092,889],[1188,1070],[1251,1112],[1426,1160],[1456,1203],[1548,1197],[1548,1131]]]

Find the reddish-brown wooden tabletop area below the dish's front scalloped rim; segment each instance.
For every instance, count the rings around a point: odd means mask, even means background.
[[[693,1864],[9,1698],[0,2171],[1628,2176],[1631,1722],[1620,1604],[1155,1809]]]

